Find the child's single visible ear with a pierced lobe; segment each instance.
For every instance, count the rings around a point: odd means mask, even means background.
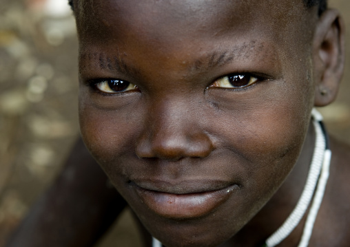
[[[315,103],[322,107],[337,95],[345,59],[344,23],[338,10],[326,10],[313,36]]]

